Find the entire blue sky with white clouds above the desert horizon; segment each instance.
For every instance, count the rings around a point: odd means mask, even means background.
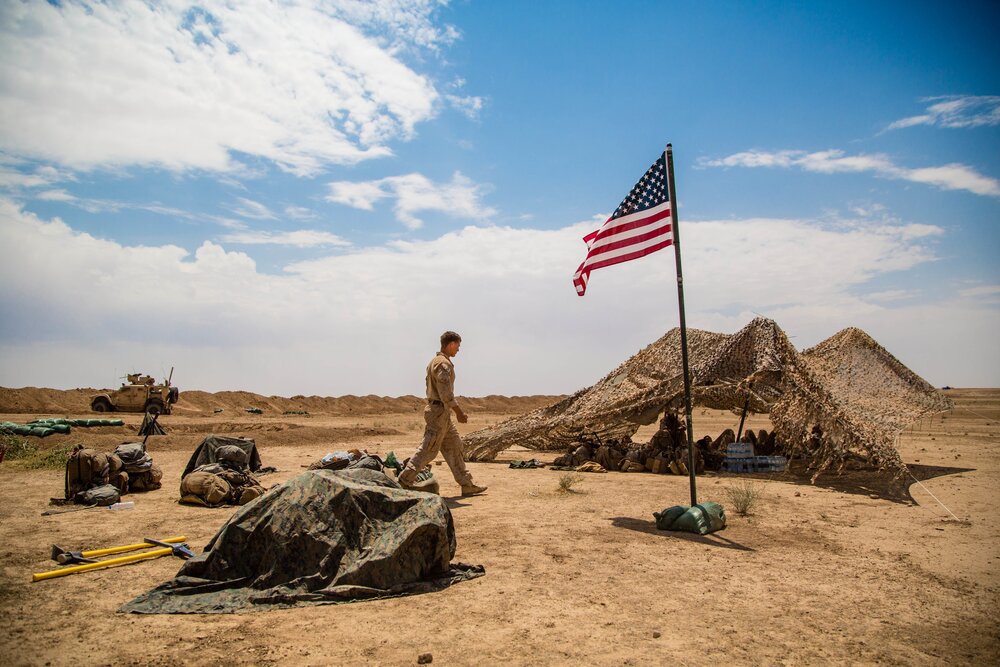
[[[688,324],[1000,386],[991,3],[0,6],[0,385],[564,393],[677,324],[571,275],[672,142]]]

